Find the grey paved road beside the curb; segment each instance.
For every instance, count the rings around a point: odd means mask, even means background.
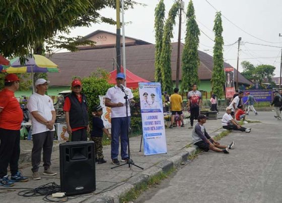
[[[250,134],[234,132],[230,154],[203,152],[134,202],[282,202],[282,121],[273,112],[250,119]]]

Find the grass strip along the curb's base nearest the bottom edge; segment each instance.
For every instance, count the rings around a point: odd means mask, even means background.
[[[126,203],[135,200],[143,191],[160,184],[161,181],[167,178],[173,171],[175,171],[175,168],[172,168],[168,172],[161,172],[158,175],[154,175],[150,177],[147,182],[143,182],[141,184],[136,185],[134,188],[129,190],[126,194],[120,196],[119,202]]]

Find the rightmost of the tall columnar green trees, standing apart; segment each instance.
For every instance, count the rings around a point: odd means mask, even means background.
[[[214,45],[214,68],[212,76],[212,91],[219,98],[224,95],[225,73],[224,73],[224,60],[223,60],[223,37],[222,37],[222,19],[221,12],[217,12],[215,18],[214,32],[215,32],[215,45]]]

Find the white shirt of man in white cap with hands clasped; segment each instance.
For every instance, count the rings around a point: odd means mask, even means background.
[[[38,93],[32,94],[27,102],[27,109],[30,113],[37,111],[40,116],[42,116],[47,121],[52,120],[51,111],[55,111],[53,106],[53,100],[48,95],[41,95]],[[43,133],[46,131],[50,131],[47,126],[38,122],[31,114],[31,124],[32,124],[32,135],[37,133]],[[55,128],[53,127],[53,130]]]

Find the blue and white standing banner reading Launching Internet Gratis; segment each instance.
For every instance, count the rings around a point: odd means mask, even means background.
[[[167,153],[160,82],[139,82],[144,154]]]

